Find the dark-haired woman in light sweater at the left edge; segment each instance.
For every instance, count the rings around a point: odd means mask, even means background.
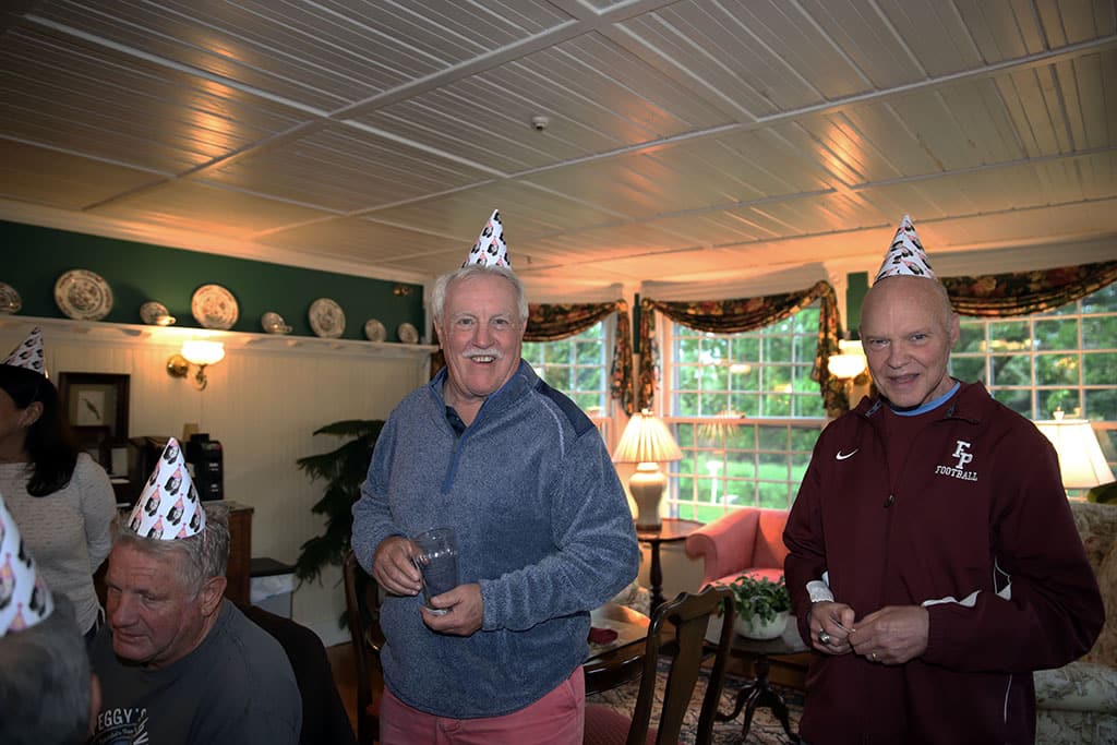
[[[95,632],[93,574],[112,548],[116,498],[105,470],[78,452],[54,383],[15,353],[0,364],[0,494],[47,586]]]

